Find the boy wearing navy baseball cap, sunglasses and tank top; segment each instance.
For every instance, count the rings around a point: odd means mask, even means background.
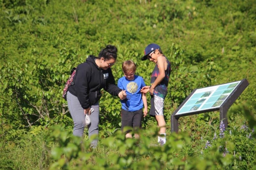
[[[149,44],[144,51],[142,61],[149,59],[156,63],[156,66],[151,74],[150,86],[144,86],[140,92],[146,93],[149,91],[151,95],[151,108],[149,114],[155,116],[158,127],[160,128],[158,143],[163,145],[166,143],[166,127],[164,120],[164,99],[167,94],[167,86],[171,73],[171,64],[163,55],[159,45]]]

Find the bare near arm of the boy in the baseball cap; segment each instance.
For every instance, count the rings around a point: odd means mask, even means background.
[[[164,73],[164,62],[166,61],[164,56],[160,56],[157,58],[157,65],[158,65],[158,69],[159,69],[159,75],[157,76],[155,82],[151,85],[150,89],[149,89],[149,93],[153,94],[154,89],[156,88],[156,86],[164,79],[165,77],[165,73]]]

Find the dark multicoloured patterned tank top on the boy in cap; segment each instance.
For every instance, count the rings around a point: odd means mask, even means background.
[[[165,56],[164,56],[165,57]],[[165,57],[166,58],[166,57]],[[165,77],[164,79],[156,86],[155,90],[154,90],[154,94],[161,97],[161,98],[165,98],[166,94],[167,94],[167,86],[168,86],[168,82],[169,82],[169,77],[170,77],[170,73],[171,73],[171,64],[169,62],[169,60],[166,58],[166,62],[167,62],[167,69],[164,71],[165,72]],[[150,80],[150,84],[152,85],[157,76],[159,75],[159,69],[158,69],[158,65],[156,63],[156,66],[151,74],[151,80]]]

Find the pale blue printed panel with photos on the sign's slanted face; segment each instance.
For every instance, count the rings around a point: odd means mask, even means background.
[[[196,89],[175,115],[220,107],[241,81]]]

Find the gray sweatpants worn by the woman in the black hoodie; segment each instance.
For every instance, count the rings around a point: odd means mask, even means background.
[[[84,134],[84,126],[85,126],[85,115],[84,115],[84,109],[81,106],[78,98],[71,94],[70,92],[67,92],[67,102],[68,102],[68,110],[70,112],[70,115],[74,121],[74,129],[73,129],[73,135],[82,137]],[[91,119],[91,124],[88,126],[88,136],[89,138],[96,134],[99,134],[99,103],[95,103],[91,106],[94,111],[91,115],[89,115]],[[93,140],[91,143],[92,147],[96,147],[98,144],[98,139]]]

